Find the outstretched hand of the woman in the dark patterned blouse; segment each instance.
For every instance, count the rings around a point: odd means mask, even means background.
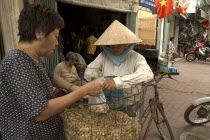
[[[89,82],[82,86],[87,91],[87,95],[99,96],[102,92],[102,84],[99,82]]]

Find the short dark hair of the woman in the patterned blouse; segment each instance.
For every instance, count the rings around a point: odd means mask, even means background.
[[[26,6],[18,19],[20,42],[36,40],[35,32],[41,31],[47,37],[55,29],[62,29],[64,20],[59,13],[44,4]]]

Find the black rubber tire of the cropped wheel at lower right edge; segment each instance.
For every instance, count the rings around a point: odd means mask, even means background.
[[[205,124],[205,123],[210,122],[210,118],[208,117],[208,116],[209,116],[209,110],[206,110],[206,111],[207,111],[206,113],[208,113],[208,114],[204,114],[204,113],[205,113],[204,110],[203,110],[203,112],[199,112],[199,110],[202,109],[201,107],[206,106],[206,105],[210,105],[210,102],[202,103],[202,104],[199,104],[199,105],[197,105],[197,106],[190,105],[190,106],[186,109],[186,111],[185,111],[185,113],[184,113],[184,119],[185,119],[185,121],[186,121],[187,123],[191,124],[191,125],[202,125],[202,124]],[[199,107],[200,107],[200,108],[199,108]],[[196,111],[196,113],[197,113],[196,115],[198,116],[198,119],[193,121],[193,120],[191,119],[190,115],[191,115],[191,113],[192,113],[193,111],[195,111],[197,108],[199,108],[199,110]],[[200,111],[202,111],[202,110],[200,110]],[[203,113],[203,114],[202,114],[202,113]],[[202,117],[201,115],[203,115],[203,117]],[[207,116],[205,116],[205,115],[207,115]],[[197,117],[197,116],[196,116],[196,117]],[[203,120],[201,120],[201,119],[203,119]],[[205,119],[206,119],[206,120],[205,120]]]

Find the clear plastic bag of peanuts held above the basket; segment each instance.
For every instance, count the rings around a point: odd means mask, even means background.
[[[104,82],[105,79],[103,77],[101,77],[101,78],[95,79],[94,81]],[[106,97],[105,97],[103,91],[101,91],[100,96],[89,97],[88,104],[89,104],[89,109],[95,113],[107,113],[107,111],[109,110],[109,106],[106,103]]]

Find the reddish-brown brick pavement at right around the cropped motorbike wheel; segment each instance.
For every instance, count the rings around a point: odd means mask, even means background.
[[[178,81],[164,78],[159,86],[160,99],[164,103],[175,140],[210,140],[210,123],[191,126],[184,120],[184,112],[191,101],[210,96],[210,62],[179,59],[175,66],[180,75],[174,75],[173,78]],[[152,94],[148,93],[146,99],[150,96]],[[154,125],[148,140],[160,140]]]

